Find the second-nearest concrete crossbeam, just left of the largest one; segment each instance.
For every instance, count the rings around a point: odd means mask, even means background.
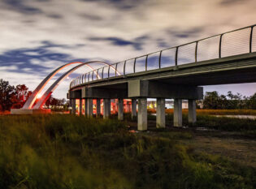
[[[83,98],[127,98],[127,88],[82,88]]]

